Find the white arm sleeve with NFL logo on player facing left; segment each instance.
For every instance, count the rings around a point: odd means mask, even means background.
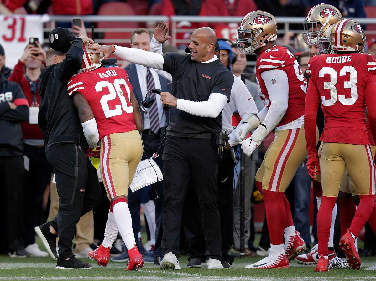
[[[268,130],[273,130],[282,120],[288,106],[288,78],[285,71],[272,69],[261,73],[268,90],[270,107],[262,122]],[[271,83],[273,80],[274,84]]]

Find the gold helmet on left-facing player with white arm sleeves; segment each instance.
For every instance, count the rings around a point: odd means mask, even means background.
[[[237,31],[238,49],[242,53],[253,53],[277,39],[277,21],[268,12],[253,11],[244,16]]]

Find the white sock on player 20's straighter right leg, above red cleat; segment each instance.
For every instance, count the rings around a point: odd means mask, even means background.
[[[121,238],[129,251],[136,244],[136,240],[132,229],[132,217],[130,216],[128,204],[123,201],[118,202],[113,208],[115,221],[119,228]]]

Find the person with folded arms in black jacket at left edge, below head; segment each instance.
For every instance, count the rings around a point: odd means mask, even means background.
[[[29,103],[17,83],[0,73],[0,252],[11,257],[27,257],[22,240],[23,178],[25,174],[22,143],[22,121],[29,120]]]

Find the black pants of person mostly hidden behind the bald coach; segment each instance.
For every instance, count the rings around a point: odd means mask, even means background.
[[[230,151],[225,151],[230,157]],[[220,160],[218,163],[218,208],[221,217],[222,261],[232,264],[234,258],[228,253],[233,244],[233,163]],[[205,234],[200,222],[200,205],[197,194],[190,188],[185,198],[183,225],[187,243],[188,260],[200,257],[205,260]]]

